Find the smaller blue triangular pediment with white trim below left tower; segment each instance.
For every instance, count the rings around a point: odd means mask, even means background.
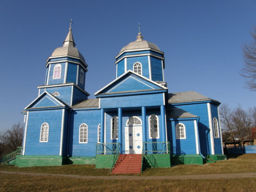
[[[65,107],[65,104],[45,91],[35,100],[33,100],[33,102],[30,103],[25,109],[44,107]]]

